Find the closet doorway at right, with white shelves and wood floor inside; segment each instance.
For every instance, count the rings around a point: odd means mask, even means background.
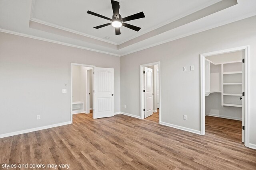
[[[248,47],[201,55],[201,134],[248,147]]]

